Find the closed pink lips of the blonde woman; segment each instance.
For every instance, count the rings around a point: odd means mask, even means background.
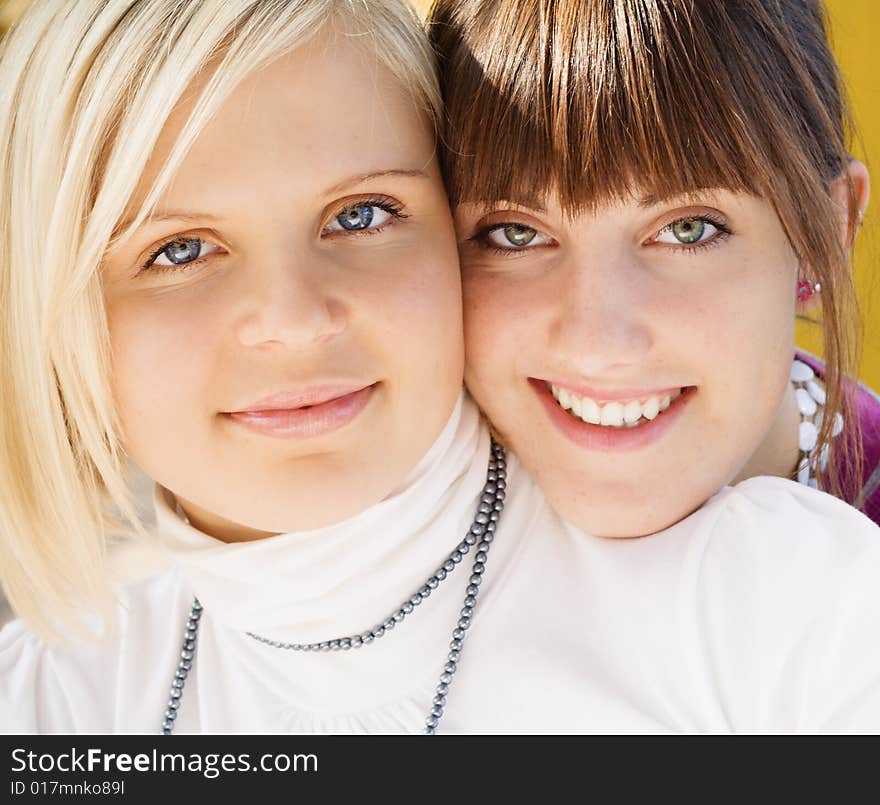
[[[273,394],[223,416],[248,430],[276,439],[311,439],[347,425],[366,408],[378,383],[315,386]]]

